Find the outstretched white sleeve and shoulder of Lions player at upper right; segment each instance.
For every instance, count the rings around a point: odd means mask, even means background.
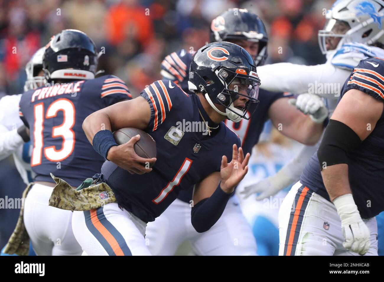
[[[361,43],[344,43],[327,54],[324,64],[305,66],[277,63],[257,67],[260,88],[293,94],[313,93],[326,98],[329,116],[336,108],[344,82],[353,68],[366,58],[384,58],[384,50]],[[276,83],[278,82],[278,83]]]

